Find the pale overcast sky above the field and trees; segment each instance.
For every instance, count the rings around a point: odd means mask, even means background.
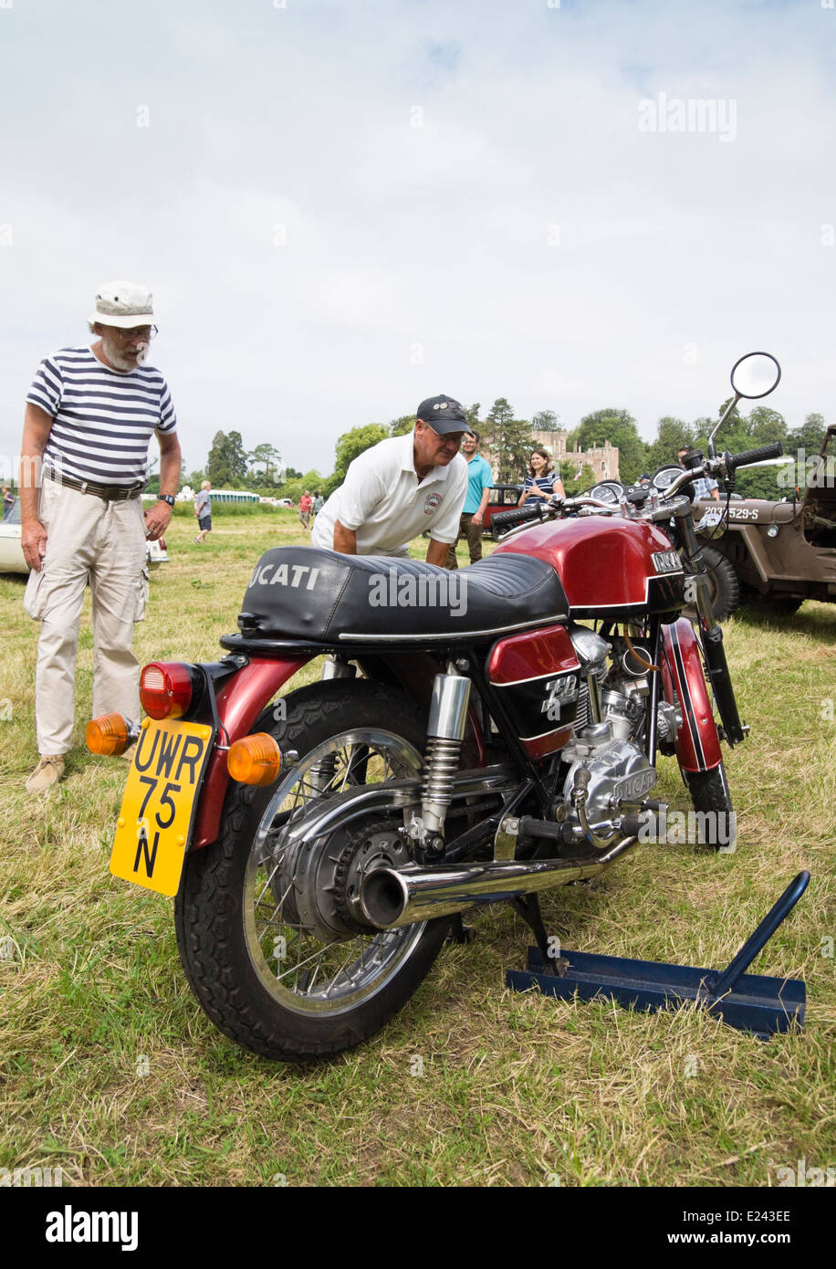
[[[0,0],[5,462],[110,278],[189,468],[235,428],[327,475],[436,392],[651,437],[751,349],[836,421],[831,4]]]

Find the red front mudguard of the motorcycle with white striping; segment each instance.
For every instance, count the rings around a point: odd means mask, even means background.
[[[670,703],[679,699],[683,709],[683,726],[676,736],[679,765],[684,772],[710,772],[723,758],[699,641],[685,617],[662,627],[662,654],[665,699]]]

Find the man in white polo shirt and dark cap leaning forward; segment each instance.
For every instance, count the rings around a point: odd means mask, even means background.
[[[430,530],[426,562],[444,567],[467,492],[462,439],[472,435],[453,397],[428,397],[415,428],[372,445],[350,463],[345,481],[320,511],[311,543],[344,555],[406,556]]]

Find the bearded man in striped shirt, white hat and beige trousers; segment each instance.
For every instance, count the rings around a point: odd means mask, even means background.
[[[41,622],[36,670],[44,793],[63,775],[72,737],[84,590],[93,602],[93,716],[140,717],[133,623],[145,614],[146,538],[165,533],[180,478],[169,387],[146,364],[156,334],[151,293],[110,282],[95,298],[88,346],[44,358],[27,396],[20,447],[22,547],[32,572],[24,608]],[[143,515],[148,442],[160,444],[160,496]]]

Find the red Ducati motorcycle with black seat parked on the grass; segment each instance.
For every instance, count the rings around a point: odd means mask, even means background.
[[[741,359],[738,382],[759,368]],[[709,453],[633,501],[502,513],[507,537],[455,572],[268,551],[225,656],[145,666],[141,727],[89,725],[95,751],[136,741],[112,872],[175,896],[186,977],[226,1036],[285,1061],[368,1039],[483,904],[510,901],[549,964],[539,892],[651,835],[660,754],[707,844],[728,843],[721,740],[746,727],[684,490],[779,452]],[[320,681],[277,698],[322,655]]]

